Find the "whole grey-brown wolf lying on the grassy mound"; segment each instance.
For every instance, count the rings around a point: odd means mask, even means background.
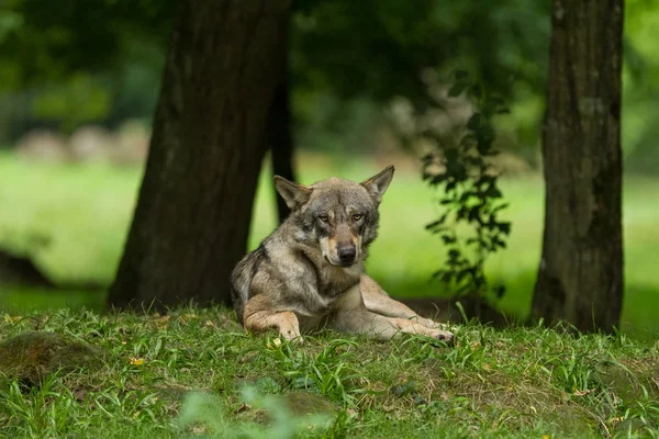
[[[276,327],[293,339],[327,325],[382,339],[402,331],[453,341],[364,272],[392,177],[392,166],[361,183],[333,177],[303,187],[275,177],[291,214],[232,274],[234,307],[247,330]]]

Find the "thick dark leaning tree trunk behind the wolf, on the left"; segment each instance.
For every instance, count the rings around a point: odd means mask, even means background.
[[[290,0],[183,0],[109,306],[228,302],[282,71]]]

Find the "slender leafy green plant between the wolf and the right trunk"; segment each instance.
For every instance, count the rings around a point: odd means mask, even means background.
[[[489,286],[485,260],[506,247],[511,233],[511,223],[499,218],[509,204],[502,202],[499,176],[490,160],[499,154],[493,148],[492,119],[509,110],[501,99],[487,95],[480,86],[471,85],[463,71],[456,72],[448,95],[465,97],[474,111],[455,143],[448,144],[434,130],[424,133],[437,147],[423,157],[423,179],[443,190],[439,198],[443,213],[426,225],[446,246],[445,268],[433,275],[450,284],[456,296],[470,292],[484,295]],[[463,233],[465,228],[470,232]],[[498,297],[504,291],[503,286],[494,289]]]

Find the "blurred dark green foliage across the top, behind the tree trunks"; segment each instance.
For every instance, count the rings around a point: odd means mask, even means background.
[[[382,108],[427,101],[427,69],[468,70],[511,102],[505,148],[535,162],[548,65],[549,2],[294,0],[289,74],[303,148],[370,149]],[[623,146],[652,170],[659,127],[659,2],[628,0]],[[175,0],[4,0],[0,7],[0,145],[46,125],[149,120]]]

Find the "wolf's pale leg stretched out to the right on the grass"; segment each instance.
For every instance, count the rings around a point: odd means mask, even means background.
[[[333,318],[335,329],[367,334],[384,340],[399,333],[410,333],[453,342],[454,335],[449,331],[431,328],[406,318],[386,317],[367,309],[359,290],[359,285],[353,286],[337,302]]]

